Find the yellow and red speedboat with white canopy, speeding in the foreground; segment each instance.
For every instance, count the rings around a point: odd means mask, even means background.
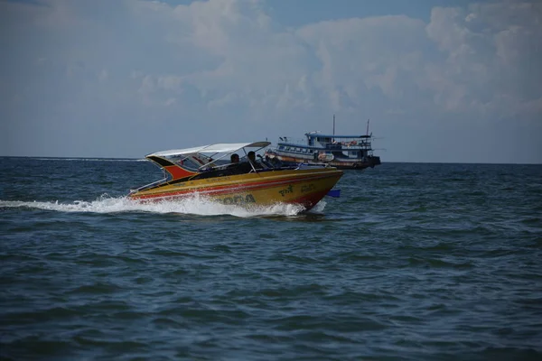
[[[215,143],[145,156],[164,171],[164,179],[131,190],[137,200],[170,200],[201,196],[243,207],[277,203],[309,210],[341,179],[328,164],[283,163],[258,155],[270,142]],[[232,162],[231,154],[239,162]]]

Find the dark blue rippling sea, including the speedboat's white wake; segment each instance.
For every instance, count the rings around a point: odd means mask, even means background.
[[[541,360],[542,166],[383,163],[311,212],[0,158],[5,360]]]

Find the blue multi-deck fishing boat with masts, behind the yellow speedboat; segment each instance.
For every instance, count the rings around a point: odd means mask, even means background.
[[[338,169],[363,170],[380,164],[380,157],[373,154],[372,134],[337,135],[333,116],[333,134],[305,133],[303,141],[279,137],[275,148],[266,156],[281,162],[325,163]]]

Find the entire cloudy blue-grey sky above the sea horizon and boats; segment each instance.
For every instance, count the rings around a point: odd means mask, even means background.
[[[382,162],[542,163],[542,2],[0,0],[0,156],[306,132]]]

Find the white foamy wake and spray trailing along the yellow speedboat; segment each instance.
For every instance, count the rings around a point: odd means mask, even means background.
[[[321,202],[322,203],[322,202]],[[322,211],[325,204],[318,204],[314,209]],[[255,216],[296,216],[304,207],[295,204],[277,203],[271,206],[253,206],[243,208],[235,205],[224,205],[195,195],[185,199],[161,200],[142,202],[127,197],[109,197],[102,195],[94,201],[75,200],[73,203],[41,202],[41,201],[7,201],[0,200],[0,208],[35,208],[54,210],[60,212],[89,212],[89,213],[117,213],[117,212],[150,212],[150,213],[181,213],[200,216],[230,215],[240,218]]]

